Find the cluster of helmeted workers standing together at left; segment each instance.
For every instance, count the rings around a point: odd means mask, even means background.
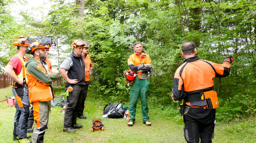
[[[32,142],[43,143],[44,133],[48,129],[49,113],[53,100],[52,82],[57,80],[57,73],[52,71],[52,64],[46,57],[53,42],[50,38],[33,41],[20,38],[13,43],[18,54],[14,55],[6,66],[6,73],[13,79],[13,95],[16,98],[13,140],[19,143],[31,143],[27,132],[33,132]],[[83,125],[76,123],[76,118],[83,116],[85,98],[90,77],[92,62],[88,55],[90,43],[81,39],[72,43],[72,53],[60,66],[60,73],[66,80],[66,88],[72,87],[68,99],[68,107],[64,115],[64,132],[76,132]],[[33,55],[32,58],[24,56]],[[66,73],[68,71],[68,73]],[[29,113],[29,105],[32,105]],[[35,121],[35,127],[31,127]]]

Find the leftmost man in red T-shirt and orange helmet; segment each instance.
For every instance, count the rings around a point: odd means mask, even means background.
[[[27,123],[29,116],[29,100],[28,100],[28,79],[26,77],[25,64],[29,57],[25,57],[26,49],[31,39],[20,38],[13,43],[17,46],[18,54],[14,55],[6,66],[6,73],[13,79],[13,95],[16,98],[16,113],[14,117],[13,140],[19,139],[20,143],[29,143],[27,139]]]

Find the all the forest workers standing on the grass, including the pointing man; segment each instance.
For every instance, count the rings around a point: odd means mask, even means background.
[[[18,54],[13,56],[6,66],[6,73],[14,80],[13,94],[17,101],[13,139],[17,139],[20,143],[30,143],[27,131],[33,132],[33,143],[42,143],[47,129],[53,99],[51,84],[58,76],[52,71],[50,60],[46,58],[52,43],[43,40],[45,39],[33,42],[21,36],[13,44],[17,46]],[[62,77],[66,80],[65,89],[72,88],[65,109],[63,132],[76,133],[75,129],[83,128],[83,125],[76,123],[77,116],[86,119],[83,116],[83,109],[89,75],[92,74],[92,62],[88,56],[89,46],[90,43],[81,39],[73,41],[71,54],[64,59],[59,68]],[[133,47],[135,52],[128,58],[130,70],[126,72],[126,81],[130,85],[128,126],[134,125],[139,97],[143,123],[151,126],[147,105],[149,91],[147,77],[151,70],[151,59],[143,51],[140,42],[134,43]],[[33,58],[25,57],[26,53],[33,55]],[[175,72],[171,98],[175,102],[182,100],[180,114],[185,124],[184,138],[188,143],[199,143],[199,138],[201,143],[211,143],[214,138],[215,108],[219,105],[217,93],[213,91],[213,78],[227,77],[234,57],[224,57],[222,64],[199,59],[196,56],[195,43],[192,41],[181,46],[181,54],[185,61]],[[33,108],[29,114],[30,104]],[[33,120],[34,130],[31,129]]]

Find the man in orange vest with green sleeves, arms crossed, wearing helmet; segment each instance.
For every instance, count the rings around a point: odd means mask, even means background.
[[[33,130],[33,143],[43,143],[44,133],[47,128],[49,113],[51,109],[51,100],[53,99],[53,88],[51,86],[53,80],[57,79],[56,74],[50,74],[46,62],[45,46],[39,42],[31,43],[27,53],[31,53],[26,63],[29,102],[33,104],[33,114],[35,120],[35,128]]]

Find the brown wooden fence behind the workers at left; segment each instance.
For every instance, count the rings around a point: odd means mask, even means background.
[[[58,78],[53,84],[61,86],[63,78]],[[0,73],[0,88],[7,88],[13,84],[13,79],[11,79],[6,73]]]

